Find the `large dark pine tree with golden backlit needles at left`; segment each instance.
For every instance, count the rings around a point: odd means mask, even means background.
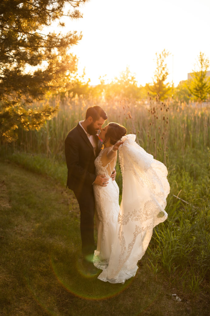
[[[47,91],[59,89],[76,68],[68,53],[81,39],[77,32],[46,31],[52,22],[81,17],[78,6],[88,0],[1,0],[0,2],[0,134],[11,141],[15,131],[38,128],[55,108],[32,109]]]

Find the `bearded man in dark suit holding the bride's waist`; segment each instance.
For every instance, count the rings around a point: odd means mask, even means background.
[[[101,148],[98,130],[107,119],[100,106],[89,107],[84,121],[80,121],[65,139],[65,158],[68,168],[67,187],[74,191],[80,208],[80,232],[83,264],[88,274],[96,274],[92,264],[94,254],[94,191],[93,184],[106,186],[105,175],[95,175],[94,160]],[[115,178],[116,172],[112,175]]]

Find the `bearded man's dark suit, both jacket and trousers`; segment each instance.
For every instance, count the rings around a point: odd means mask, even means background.
[[[94,192],[96,179],[94,160],[98,156],[101,142],[95,135],[96,155],[85,131],[74,127],[65,139],[65,158],[68,168],[67,187],[74,191],[80,207],[80,231],[82,253],[94,252]]]

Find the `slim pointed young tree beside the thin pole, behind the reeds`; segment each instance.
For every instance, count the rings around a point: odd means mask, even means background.
[[[156,53],[156,70],[153,77],[153,85],[146,84],[152,96],[159,95],[160,100],[164,100],[172,94],[173,87],[169,82],[165,82],[168,76],[167,64],[165,59],[169,56],[169,52],[165,49],[161,53]]]

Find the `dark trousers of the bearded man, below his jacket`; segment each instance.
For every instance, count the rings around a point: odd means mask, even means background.
[[[74,191],[80,208],[80,232],[83,257],[93,254],[94,245],[94,191],[93,186],[83,186],[80,191]]]

